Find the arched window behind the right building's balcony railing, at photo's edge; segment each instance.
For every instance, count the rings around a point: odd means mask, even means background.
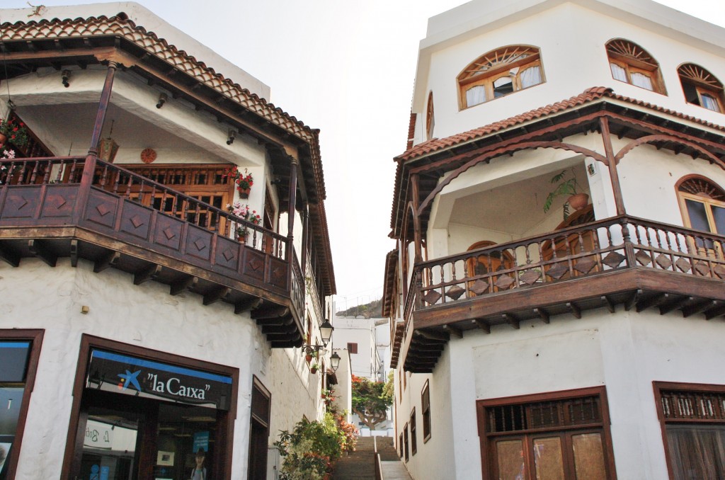
[[[690,175],[677,183],[677,196],[685,226],[725,234],[725,191],[716,183]]]

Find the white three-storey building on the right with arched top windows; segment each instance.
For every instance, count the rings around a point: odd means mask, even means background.
[[[725,471],[724,46],[647,0],[429,20],[384,287],[415,479]]]

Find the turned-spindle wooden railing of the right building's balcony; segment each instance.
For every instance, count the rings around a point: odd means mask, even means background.
[[[630,268],[725,281],[725,237],[619,216],[415,265],[415,310]]]

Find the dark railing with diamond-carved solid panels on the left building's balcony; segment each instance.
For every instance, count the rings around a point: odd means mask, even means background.
[[[304,276],[286,236],[101,160],[84,183],[89,165],[86,157],[0,159],[0,228],[83,228],[269,291],[302,315]]]

